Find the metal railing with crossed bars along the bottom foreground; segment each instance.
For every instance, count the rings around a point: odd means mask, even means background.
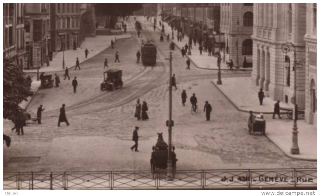
[[[166,172],[19,172],[3,173],[3,189],[257,189],[315,188],[317,169],[178,170]]]

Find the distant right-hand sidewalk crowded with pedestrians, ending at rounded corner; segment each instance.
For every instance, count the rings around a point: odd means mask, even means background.
[[[157,24],[156,27],[159,31],[161,31],[161,28],[159,26],[159,22],[161,20],[161,17],[157,18]],[[153,21],[153,20],[152,20]],[[151,21],[150,21],[151,22]],[[164,32],[165,35],[170,34],[170,40],[172,37],[172,29],[171,27],[168,25],[168,23],[164,22]],[[174,39],[172,40],[175,45],[181,50],[182,47],[184,47],[184,45],[189,42],[189,37],[187,35],[184,35],[184,39],[182,39],[182,41],[178,42],[177,41],[177,30],[173,30],[173,35],[174,35]],[[164,35],[164,42],[166,42],[166,36]],[[160,39],[160,38],[159,38]],[[214,70],[218,70],[218,66],[217,66],[217,58],[214,56],[208,56],[208,52],[204,52],[202,51],[202,55],[200,55],[200,51],[199,51],[199,43],[196,43],[196,46],[194,45],[194,43],[192,43],[192,49],[191,49],[191,55],[186,55],[198,68],[202,68],[202,69],[214,69]],[[186,53],[188,53],[188,51],[186,51]],[[200,63],[201,62],[201,63]],[[226,63],[223,63],[221,60],[221,64],[220,64],[221,70],[229,70],[228,65]],[[233,67],[234,70],[235,67]],[[252,68],[240,68],[238,70],[252,70]]]

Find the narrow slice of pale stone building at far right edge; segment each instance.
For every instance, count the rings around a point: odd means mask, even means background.
[[[305,120],[317,125],[317,4],[307,3],[306,8],[306,85]]]

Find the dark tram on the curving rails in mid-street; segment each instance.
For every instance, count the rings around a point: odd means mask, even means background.
[[[144,66],[155,65],[157,58],[157,48],[152,40],[141,44],[141,60]]]

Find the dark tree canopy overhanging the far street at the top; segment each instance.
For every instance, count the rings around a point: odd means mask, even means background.
[[[97,3],[95,11],[98,15],[128,16],[140,10],[142,3]]]

